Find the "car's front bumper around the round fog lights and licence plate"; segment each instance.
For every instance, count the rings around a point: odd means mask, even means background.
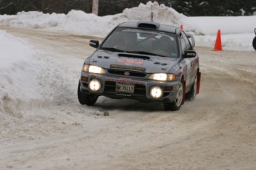
[[[91,79],[97,79],[101,83],[102,88],[97,92],[93,92],[89,89],[88,83]],[[116,82],[122,84],[134,84],[134,93],[116,92]],[[177,95],[177,89],[180,81],[153,81],[140,78],[127,78],[114,75],[99,75],[88,72],[82,72],[80,78],[80,90],[83,93],[103,95],[108,98],[120,99],[129,98],[138,101],[163,101],[171,102],[175,101]],[[160,86],[163,89],[163,96],[160,98],[153,98],[150,95],[150,89],[152,86]]]

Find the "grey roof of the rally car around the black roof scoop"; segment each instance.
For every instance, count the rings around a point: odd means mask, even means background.
[[[154,21],[127,21],[122,24],[119,24],[117,27],[141,28],[146,30],[165,31],[169,33],[177,33],[176,30],[180,30],[179,27],[159,24]]]

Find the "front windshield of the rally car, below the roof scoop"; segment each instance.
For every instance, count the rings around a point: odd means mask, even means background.
[[[163,57],[178,57],[174,33],[117,27],[103,42],[100,49],[131,52]]]

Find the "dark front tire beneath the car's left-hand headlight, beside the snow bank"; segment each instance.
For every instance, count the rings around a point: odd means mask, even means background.
[[[97,95],[82,93],[80,90],[80,81],[77,88],[77,97],[80,104],[86,104],[87,106],[93,106],[98,99]]]

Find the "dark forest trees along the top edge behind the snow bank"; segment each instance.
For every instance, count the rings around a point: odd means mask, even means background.
[[[185,16],[256,16],[255,0],[155,0],[172,7]],[[16,15],[22,11],[65,13],[70,10],[92,12],[93,0],[0,0],[0,15]],[[122,13],[125,8],[137,7],[148,0],[99,0],[99,16]]]

